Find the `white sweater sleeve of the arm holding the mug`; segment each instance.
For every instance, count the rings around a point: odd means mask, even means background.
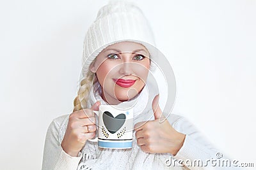
[[[81,160],[81,152],[77,157],[72,157],[63,151],[61,141],[59,141],[59,129],[60,124],[55,120],[51,122],[47,129],[42,170],[75,170]]]

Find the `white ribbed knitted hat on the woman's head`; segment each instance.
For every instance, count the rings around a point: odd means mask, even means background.
[[[89,71],[93,59],[107,46],[120,41],[132,41],[144,45],[150,53],[150,70],[156,69],[159,50],[154,35],[143,12],[134,4],[118,0],[109,1],[100,8],[96,20],[84,38],[83,76]]]

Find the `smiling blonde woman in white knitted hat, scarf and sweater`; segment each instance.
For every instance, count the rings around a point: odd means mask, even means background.
[[[138,7],[125,1],[102,7],[84,39],[74,111],[49,125],[42,169],[194,169],[182,161],[216,158],[217,150],[193,124],[179,115],[163,116],[150,78],[157,57],[163,60]],[[88,141],[97,136],[93,110],[123,103],[134,103],[133,147],[98,148]]]

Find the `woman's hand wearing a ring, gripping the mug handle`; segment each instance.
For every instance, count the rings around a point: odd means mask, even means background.
[[[68,155],[77,157],[87,139],[94,138],[96,125],[93,110],[98,111],[99,105],[100,101],[97,101],[90,109],[74,111],[70,114],[67,130],[61,142],[61,147]]]

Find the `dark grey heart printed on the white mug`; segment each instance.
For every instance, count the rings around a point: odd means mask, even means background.
[[[116,117],[113,117],[109,111],[104,111],[102,114],[104,125],[106,126],[106,129],[111,132],[111,134],[117,132],[122,127],[122,125],[124,125],[125,118],[126,115],[124,113],[121,113]]]

